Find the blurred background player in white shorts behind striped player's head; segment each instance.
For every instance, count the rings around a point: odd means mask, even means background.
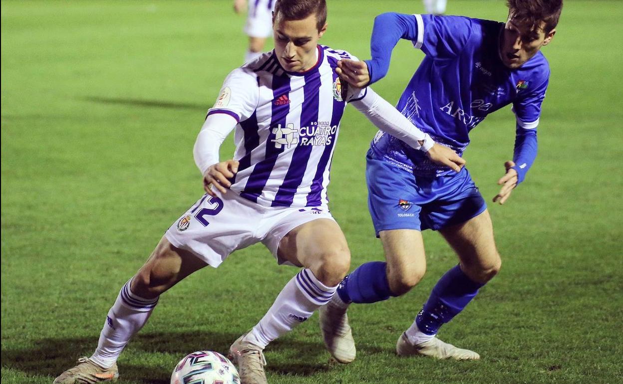
[[[234,11],[242,13],[247,9],[249,14],[244,33],[249,36],[249,48],[244,56],[244,62],[248,63],[264,52],[266,39],[272,35],[272,12],[277,0],[234,0]]]

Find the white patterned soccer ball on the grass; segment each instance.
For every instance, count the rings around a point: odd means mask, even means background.
[[[240,384],[234,364],[211,350],[198,350],[179,360],[171,384]]]

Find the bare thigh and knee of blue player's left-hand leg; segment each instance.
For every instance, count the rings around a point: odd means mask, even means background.
[[[392,293],[404,294],[426,273],[426,255],[422,233],[398,229],[379,232],[387,261],[389,288]]]

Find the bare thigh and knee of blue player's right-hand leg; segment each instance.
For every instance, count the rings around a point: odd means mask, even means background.
[[[439,232],[459,255],[462,269],[473,280],[486,283],[499,271],[502,260],[495,246],[488,210]]]

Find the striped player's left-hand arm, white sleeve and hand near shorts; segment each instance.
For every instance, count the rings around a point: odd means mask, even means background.
[[[238,121],[227,113],[208,115],[206,122],[197,135],[193,148],[193,156],[197,168],[201,171],[204,190],[214,196],[211,186],[222,193],[231,187],[229,178],[238,172],[238,162],[228,160],[219,162],[219,148],[227,135],[235,128]]]

